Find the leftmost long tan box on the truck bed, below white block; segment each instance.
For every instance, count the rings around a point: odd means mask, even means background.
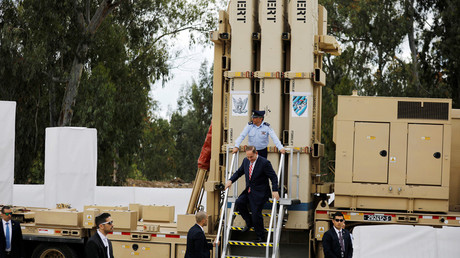
[[[35,211],[35,224],[56,225],[56,226],[82,226],[83,212],[58,210],[37,210]]]

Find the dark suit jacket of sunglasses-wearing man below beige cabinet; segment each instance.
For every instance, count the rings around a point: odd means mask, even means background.
[[[351,243],[350,232],[343,229],[342,231],[343,241],[345,244],[345,255],[346,258],[353,257],[353,244]],[[341,258],[341,248],[339,243],[339,236],[335,232],[334,227],[329,229],[323,236],[323,249],[325,258]]]

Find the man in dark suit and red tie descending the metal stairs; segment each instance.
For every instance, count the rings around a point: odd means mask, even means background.
[[[235,205],[244,221],[246,221],[246,227],[244,227],[243,232],[254,226],[257,234],[257,239],[254,241],[263,242],[266,239],[262,209],[270,196],[279,200],[278,177],[270,161],[257,155],[257,150],[254,146],[246,148],[246,158],[240,168],[227,181],[225,189],[229,188],[242,175],[245,175],[246,178],[246,188],[236,200]],[[273,189],[271,191],[269,179],[272,182]],[[249,214],[248,205],[252,214]]]

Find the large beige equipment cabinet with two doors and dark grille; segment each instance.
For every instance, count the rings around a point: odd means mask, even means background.
[[[339,96],[335,207],[447,212],[451,100]]]

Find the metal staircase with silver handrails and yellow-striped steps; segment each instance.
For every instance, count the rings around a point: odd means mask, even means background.
[[[227,149],[227,157],[229,157],[229,149]],[[281,188],[281,197],[284,197],[286,194],[284,193],[284,160],[285,154],[281,154],[279,169],[277,173],[278,177],[278,184]],[[236,166],[238,163],[238,155],[233,154],[231,163],[228,164],[228,158],[226,160],[227,166],[229,168],[225,171],[225,182],[231,177],[231,175],[236,171]],[[230,165],[230,166],[228,166]],[[219,228],[217,232],[216,239],[219,239],[222,234],[222,254],[221,258],[227,257],[247,257],[247,258],[255,258],[255,257],[272,257],[277,258],[280,257],[279,254],[279,240],[281,237],[281,230],[283,225],[283,219],[285,214],[285,209],[287,206],[291,204],[298,203],[298,200],[292,200],[290,198],[280,198],[279,200],[270,199],[269,203],[271,204],[271,213],[263,213],[262,215],[265,217],[270,217],[269,227],[266,228],[267,230],[267,241],[261,243],[255,243],[252,241],[240,241],[236,239],[231,239],[236,234],[236,231],[241,231],[243,228],[236,227],[233,225],[234,220],[239,214],[235,212],[235,201],[238,198],[238,181],[233,184],[233,196],[229,197],[229,189],[225,190],[224,197],[221,206],[221,213],[220,213],[220,220],[219,220]],[[287,196],[287,195],[286,195]],[[250,231],[253,231],[252,229]],[[259,250],[261,248],[265,248],[263,252],[264,255],[260,256],[258,252],[258,256],[241,256],[241,255],[233,255],[231,254],[231,247],[232,246],[244,246],[245,248],[248,247],[257,247]],[[249,252],[248,252],[249,253]],[[215,253],[215,258],[218,258],[218,252]]]

